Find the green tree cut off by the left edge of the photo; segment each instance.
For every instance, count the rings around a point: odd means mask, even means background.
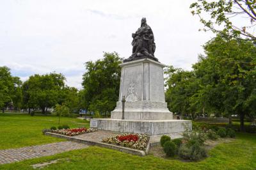
[[[21,104],[21,86],[19,77],[13,77],[10,68],[0,67],[0,108],[3,109],[10,104],[19,108]]]

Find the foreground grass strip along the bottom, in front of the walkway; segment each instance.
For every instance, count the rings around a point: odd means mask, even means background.
[[[31,165],[58,159],[44,169],[255,169],[256,135],[237,134],[231,143],[222,143],[209,151],[209,157],[200,162],[182,162],[148,155],[138,157],[120,151],[91,146],[50,157],[33,158],[0,169],[33,169]]]

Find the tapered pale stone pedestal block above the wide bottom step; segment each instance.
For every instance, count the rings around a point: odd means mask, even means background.
[[[163,68],[151,59],[122,63],[119,100],[111,112],[112,119],[122,118],[125,96],[125,120],[172,120],[164,98]]]

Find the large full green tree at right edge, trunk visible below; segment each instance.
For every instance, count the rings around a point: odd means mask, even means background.
[[[193,68],[200,80],[205,102],[224,115],[238,114],[244,131],[244,117],[255,114],[256,47],[252,42],[213,38],[204,45]]]

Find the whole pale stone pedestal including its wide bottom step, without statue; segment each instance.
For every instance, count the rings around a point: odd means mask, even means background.
[[[120,64],[119,99],[111,119],[93,119],[92,128],[148,135],[170,134],[191,128],[191,121],[172,120],[164,97],[163,65],[152,59]],[[124,120],[122,97],[125,96]]]

